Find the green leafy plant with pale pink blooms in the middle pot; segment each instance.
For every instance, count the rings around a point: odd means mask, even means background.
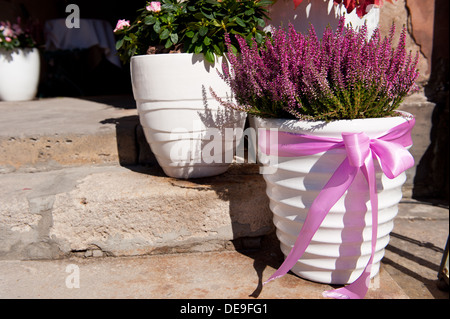
[[[122,37],[116,48],[122,61],[133,55],[173,51],[203,53],[207,61],[227,50],[225,34],[262,43],[266,6],[271,0],[161,0],[147,2],[130,24],[119,20],[115,33]],[[232,50],[237,41],[230,43]],[[149,50],[150,49],[150,50]]]

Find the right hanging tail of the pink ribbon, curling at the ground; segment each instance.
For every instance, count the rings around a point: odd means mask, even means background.
[[[336,299],[363,299],[369,290],[370,272],[372,270],[373,258],[375,255],[375,247],[378,237],[378,196],[377,181],[375,177],[375,167],[373,165],[372,156],[367,157],[366,163],[361,170],[369,184],[370,203],[372,207],[372,242],[371,254],[364,271],[353,283],[346,287],[335,290],[328,290],[323,293],[325,297]]]

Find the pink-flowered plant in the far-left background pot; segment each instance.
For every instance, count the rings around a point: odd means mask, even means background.
[[[16,48],[33,48],[36,44],[20,19],[17,23],[0,21],[0,48],[13,50]]]

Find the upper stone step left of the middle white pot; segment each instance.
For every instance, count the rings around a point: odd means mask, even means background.
[[[0,102],[0,112],[0,173],[155,162],[132,96]]]

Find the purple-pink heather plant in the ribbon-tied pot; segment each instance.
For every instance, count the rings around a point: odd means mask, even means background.
[[[389,37],[381,39],[377,29],[368,40],[366,26],[354,30],[341,18],[336,31],[325,29],[322,40],[312,25],[306,35],[292,26],[275,30],[262,46],[249,46],[237,36],[241,53],[229,50],[231,66],[224,63],[221,74],[237,105],[221,102],[262,117],[332,121],[391,116],[418,88],[419,56],[406,53],[405,28],[393,48],[394,33],[392,25]]]

